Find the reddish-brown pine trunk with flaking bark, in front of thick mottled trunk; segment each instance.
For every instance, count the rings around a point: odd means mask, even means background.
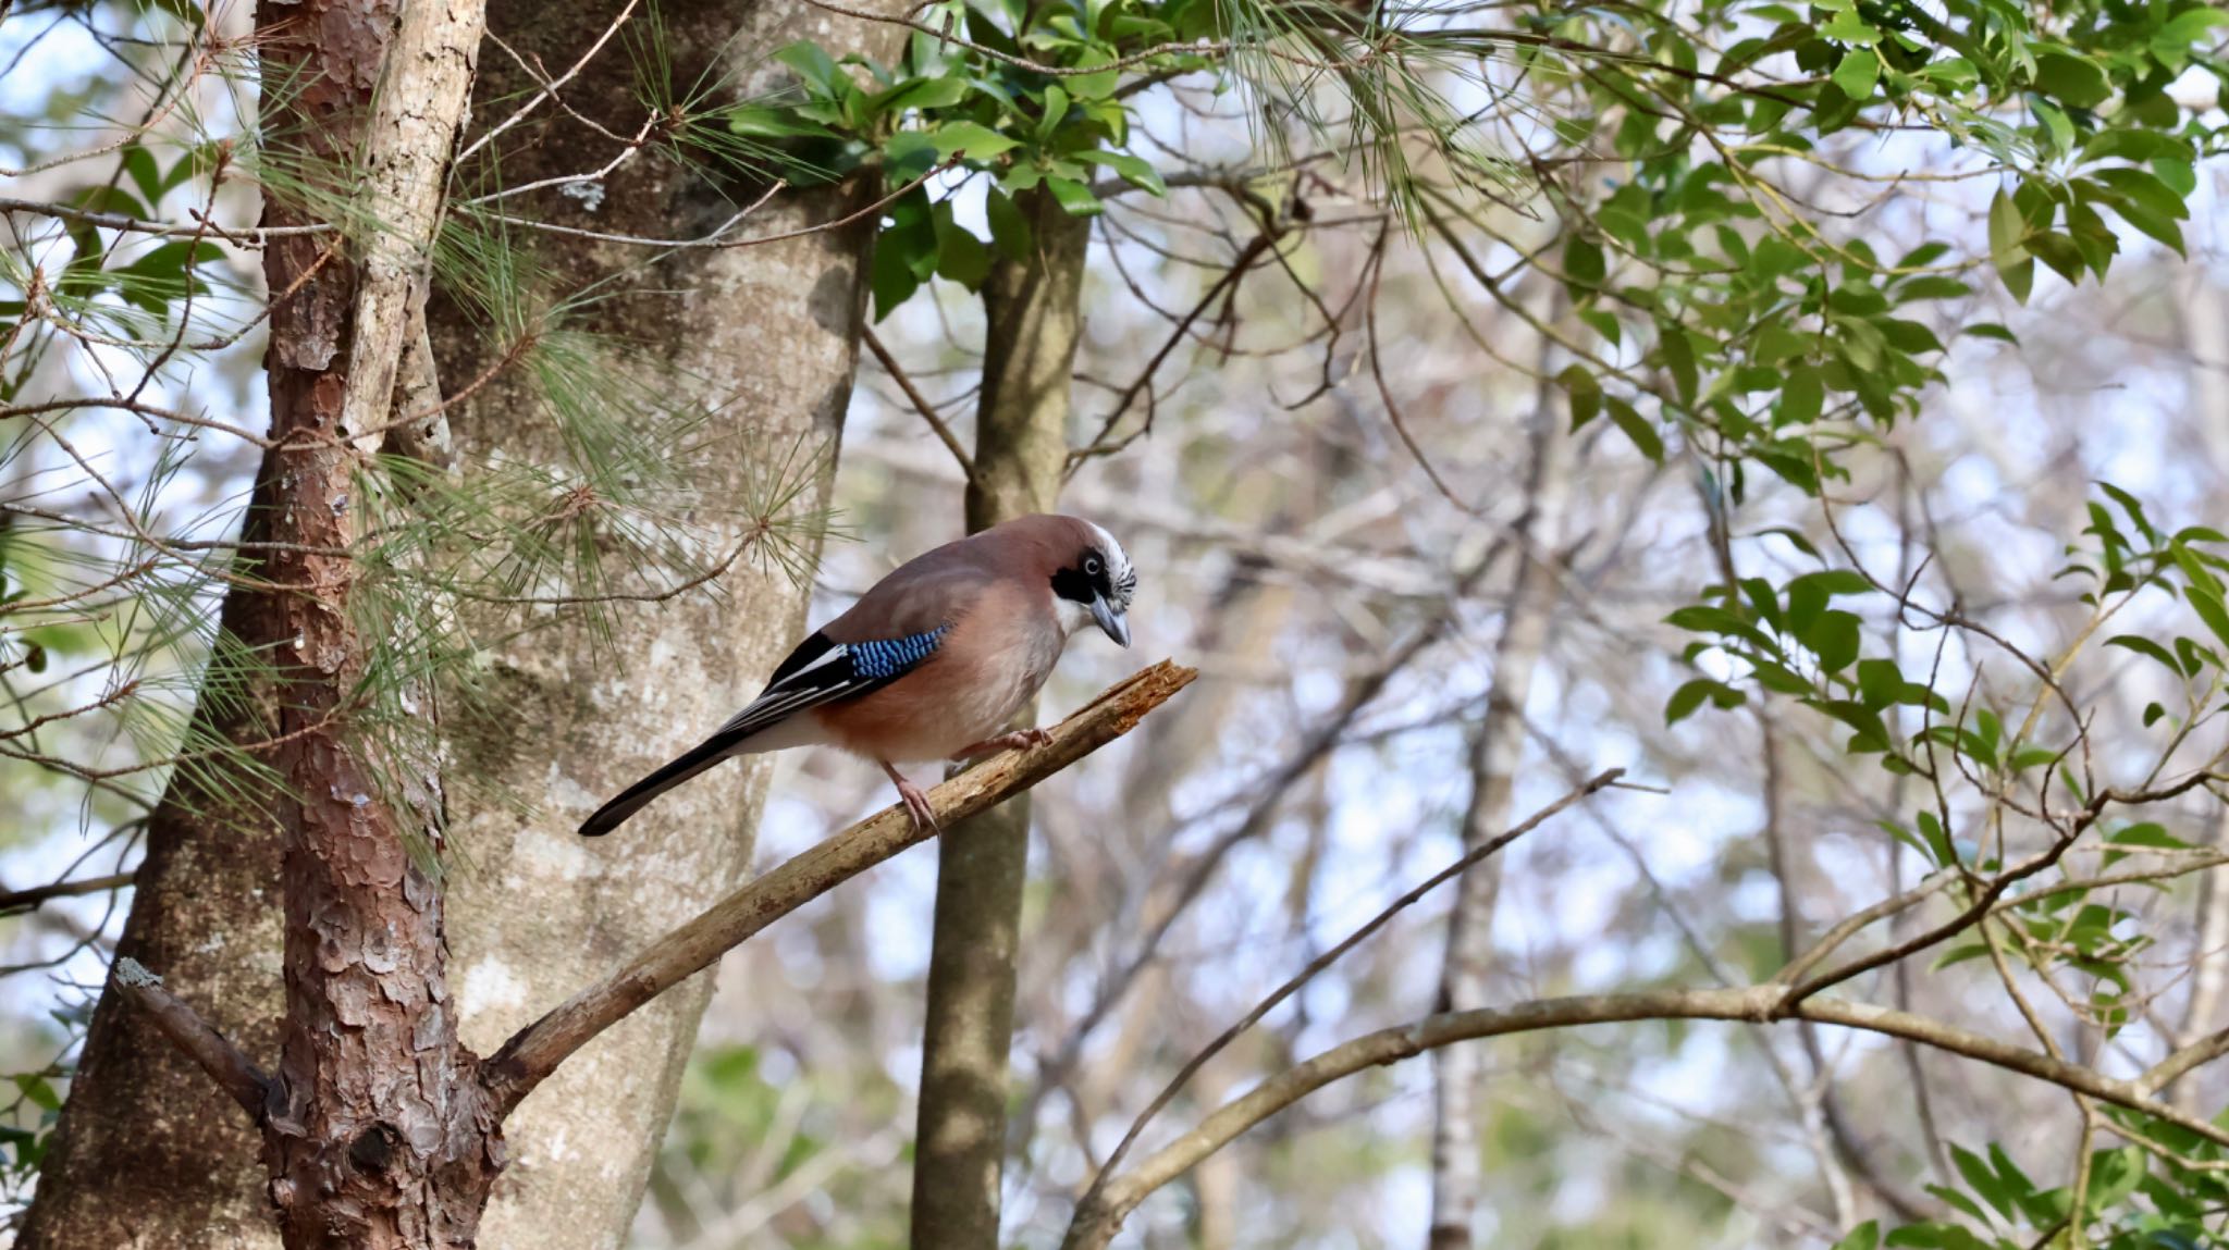
[[[470,1246],[502,1134],[475,1056],[457,1043],[444,900],[424,853],[439,847],[439,795],[388,787],[401,760],[350,731],[350,702],[381,639],[357,628],[350,555],[363,535],[350,508],[361,430],[381,426],[473,82],[484,11],[477,0],[401,4],[372,29],[341,33],[345,4],[267,4],[265,98],[290,98],[288,134],[314,167],[361,160],[352,192],[381,230],[332,285],[345,321],[303,319],[279,303],[267,361],[279,490],[270,577],[281,593],[279,751],[288,798],[281,900],[285,1025],[263,1107],[270,1201],[288,1246]],[[354,91],[374,82],[370,109]],[[350,134],[363,125],[366,131]],[[328,138],[330,136],[330,138]],[[345,140],[350,147],[339,147]],[[330,145],[330,147],[328,147]],[[292,218],[272,205],[272,218]],[[321,241],[265,252],[270,290],[317,265]],[[348,281],[352,279],[352,281]],[[345,328],[345,330],[343,330]],[[426,706],[426,704],[419,704]]]

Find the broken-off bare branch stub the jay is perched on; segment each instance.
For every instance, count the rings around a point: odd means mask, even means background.
[[[1146,713],[1168,702],[1197,675],[1195,668],[1164,660],[1108,686],[1097,700],[1052,726],[1052,738],[1041,746],[1008,751],[932,789],[929,804],[936,809],[938,824],[952,827],[956,820],[990,811],[1010,795],[1130,733]],[[702,916],[658,938],[626,967],[526,1025],[488,1056],[479,1081],[488,1090],[495,1114],[508,1114],[573,1052],[651,998],[720,963],[720,956],[749,936],[934,836],[934,829],[914,829],[903,807],[889,807],[713,902]]]

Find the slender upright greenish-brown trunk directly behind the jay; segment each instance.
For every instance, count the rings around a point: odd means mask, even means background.
[[[1021,263],[999,258],[983,283],[987,328],[970,533],[1050,512],[1068,468],[1068,377],[1083,330],[1090,221],[1068,216],[1043,192],[1019,203],[1030,218],[1032,254]],[[999,1246],[1028,858],[1028,795],[954,827],[938,842],[914,1141],[914,1250]]]

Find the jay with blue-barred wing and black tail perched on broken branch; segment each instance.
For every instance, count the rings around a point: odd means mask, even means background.
[[[1079,517],[1019,517],[898,566],[847,613],[798,644],[751,706],[687,755],[626,787],[582,822],[611,833],[664,791],[729,755],[838,746],[883,766],[916,827],[929,800],[896,769],[1030,746],[1005,733],[1068,635],[1097,624],[1130,646],[1137,573],[1121,544]]]

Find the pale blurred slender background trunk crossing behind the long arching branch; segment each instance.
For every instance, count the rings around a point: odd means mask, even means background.
[[[1487,715],[1471,742],[1471,804],[1462,813],[1462,844],[1478,847],[1509,827],[1509,804],[1518,764],[1525,760],[1525,700],[1534,668],[1547,646],[1556,611],[1558,568],[1551,566],[1556,530],[1569,490],[1569,439],[1542,388],[1534,412],[1531,459],[1525,470],[1525,510],[1518,515],[1518,573],[1509,588],[1502,635],[1493,644],[1493,689]],[[1493,969],[1493,898],[1500,891],[1500,860],[1487,860],[1456,882],[1456,905],[1447,925],[1447,963],[1440,967],[1435,1012],[1469,1012],[1487,1005]],[[1478,1217],[1478,1125],[1485,1114],[1482,1049],[1449,1045],[1431,1052],[1431,1250],[1467,1250]]]

